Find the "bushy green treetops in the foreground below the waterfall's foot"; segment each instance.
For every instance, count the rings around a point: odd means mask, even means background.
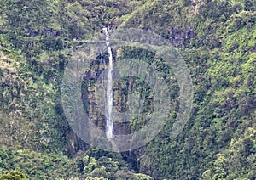
[[[85,177],[150,179],[147,175],[129,171],[128,165],[120,155],[106,153],[105,155],[96,149],[89,149],[83,155],[80,152],[71,160],[65,155],[53,153],[45,155],[29,149],[18,151],[1,149],[0,173],[4,174],[0,179],[26,179],[26,177],[32,179],[84,179]],[[12,169],[15,171],[10,171]]]

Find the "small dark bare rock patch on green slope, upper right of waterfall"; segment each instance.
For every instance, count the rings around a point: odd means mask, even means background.
[[[172,26],[169,39],[174,47],[180,47],[182,45],[189,46],[190,39],[193,37],[195,37],[195,31],[193,29],[188,28],[182,30],[181,28]]]

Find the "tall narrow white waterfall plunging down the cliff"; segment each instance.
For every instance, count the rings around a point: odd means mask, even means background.
[[[106,115],[106,135],[108,139],[113,138],[113,84],[112,84],[112,71],[113,71],[113,55],[110,47],[110,36],[108,34],[107,27],[103,28],[103,31],[105,31],[106,34],[106,44],[108,48],[108,59],[109,59],[109,65],[108,65],[108,85],[106,89],[106,100],[107,103],[105,103],[105,115]]]

